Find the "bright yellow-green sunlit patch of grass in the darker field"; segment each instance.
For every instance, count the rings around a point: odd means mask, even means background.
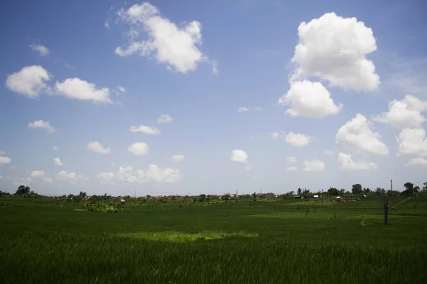
[[[181,243],[185,241],[210,241],[215,239],[226,239],[231,237],[258,238],[258,234],[247,234],[242,231],[223,233],[218,231],[204,231],[197,234],[183,233],[179,231],[138,232],[129,234],[118,234],[118,236],[144,239],[147,241],[170,241]]]

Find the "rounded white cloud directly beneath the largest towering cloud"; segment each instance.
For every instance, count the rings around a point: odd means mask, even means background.
[[[290,116],[313,119],[337,114],[342,109],[342,104],[334,104],[330,92],[322,83],[307,80],[290,82],[288,93],[280,97],[278,103],[290,106],[286,111]]]

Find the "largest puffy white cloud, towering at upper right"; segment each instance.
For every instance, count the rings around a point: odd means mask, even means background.
[[[366,56],[376,51],[371,28],[357,18],[325,13],[298,27],[299,43],[292,63],[292,80],[320,77],[332,86],[370,91],[379,85],[375,66]]]

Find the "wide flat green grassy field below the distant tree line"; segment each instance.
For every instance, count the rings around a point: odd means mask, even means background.
[[[427,283],[426,196],[81,207],[0,199],[0,283]]]

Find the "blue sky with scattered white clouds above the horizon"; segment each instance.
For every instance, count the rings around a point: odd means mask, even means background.
[[[422,0],[1,1],[0,190],[422,185],[426,9]]]

